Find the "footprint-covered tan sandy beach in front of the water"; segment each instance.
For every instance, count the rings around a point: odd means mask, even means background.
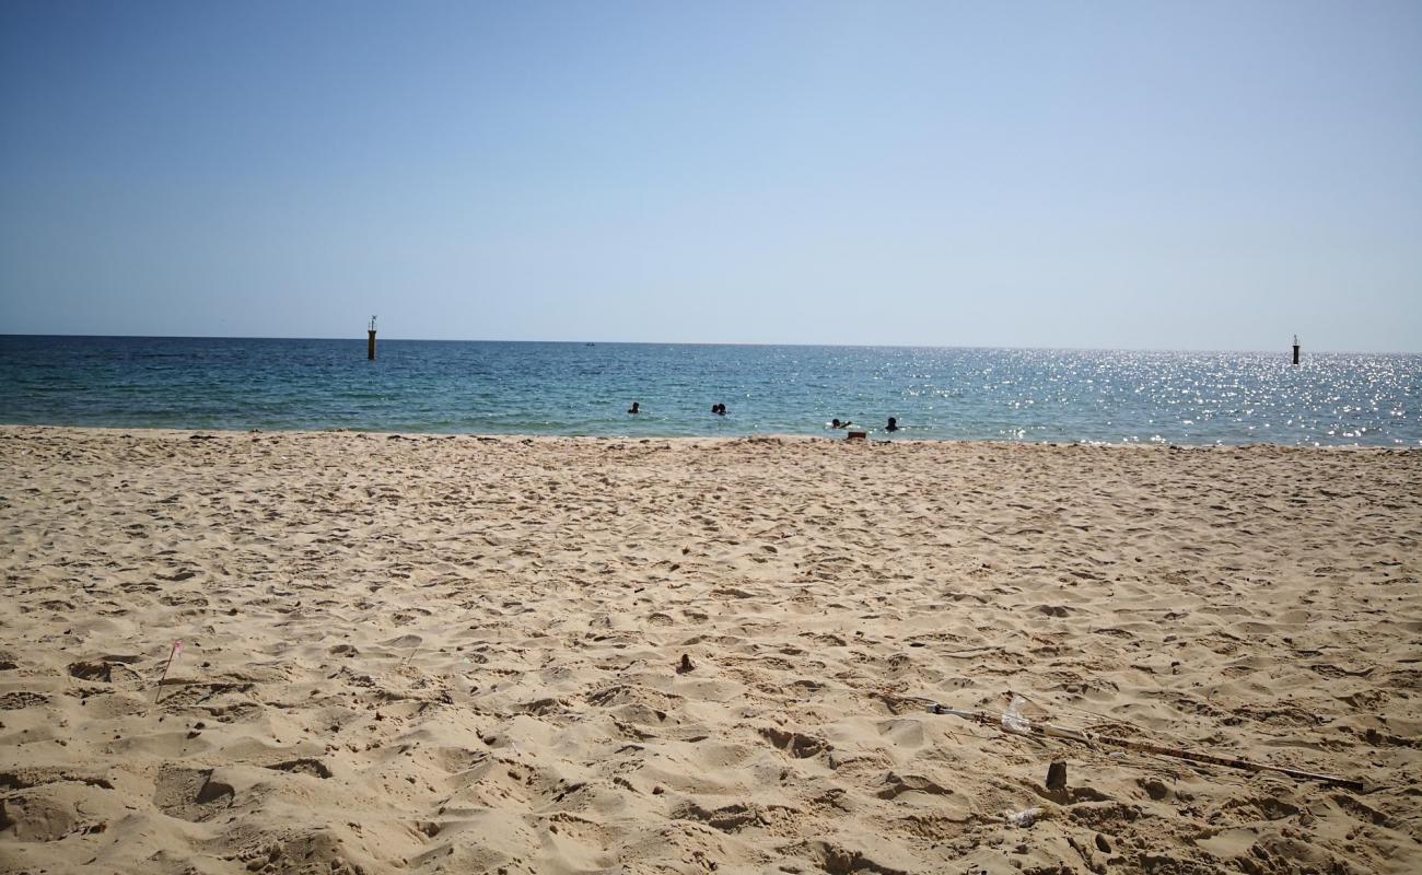
[[[4,872],[1422,868],[1422,451],[0,427],[0,528]]]

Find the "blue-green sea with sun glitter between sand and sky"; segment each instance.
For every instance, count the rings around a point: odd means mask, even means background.
[[[643,414],[624,411],[640,401]],[[711,414],[724,403],[729,414]],[[0,423],[1422,447],[1422,356],[0,336]]]

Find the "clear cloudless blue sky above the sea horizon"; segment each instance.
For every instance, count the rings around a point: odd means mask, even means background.
[[[1422,3],[0,3],[0,333],[1422,351]]]

